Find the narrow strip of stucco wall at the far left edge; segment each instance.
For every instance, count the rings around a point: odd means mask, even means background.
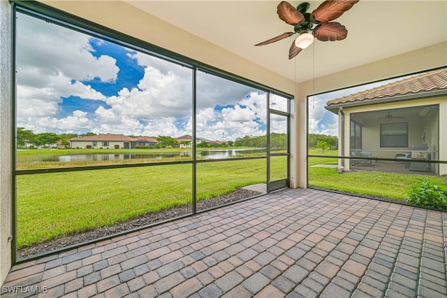
[[[0,283],[6,278],[11,265],[11,20],[8,1],[0,1]]]

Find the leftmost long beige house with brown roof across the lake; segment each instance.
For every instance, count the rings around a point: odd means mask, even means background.
[[[71,138],[70,148],[131,148],[133,138],[124,134],[98,134]]]

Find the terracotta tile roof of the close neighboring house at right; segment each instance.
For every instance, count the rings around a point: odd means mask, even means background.
[[[398,80],[393,83],[375,87],[369,90],[346,95],[338,99],[332,99],[326,104],[346,104],[355,101],[368,101],[411,93],[427,92],[430,90],[447,89],[447,68],[427,71],[417,76]]]

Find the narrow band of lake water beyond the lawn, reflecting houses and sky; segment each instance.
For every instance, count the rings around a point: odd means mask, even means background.
[[[225,159],[235,157],[247,157],[247,156],[263,156],[266,155],[265,148],[251,148],[251,149],[228,149],[228,150],[203,150],[197,152],[198,159]],[[126,160],[126,159],[170,159],[175,157],[191,157],[191,151],[184,151],[180,153],[98,153],[98,154],[79,154],[79,155],[59,155],[52,156],[45,161],[47,162],[96,162],[103,160]]]

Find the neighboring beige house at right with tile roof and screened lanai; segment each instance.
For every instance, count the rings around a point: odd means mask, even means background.
[[[328,101],[339,118],[339,156],[403,159],[410,171],[447,174],[447,68]],[[358,160],[340,160],[349,170]],[[366,161],[365,161],[366,162]],[[370,161],[368,161],[370,162]]]

